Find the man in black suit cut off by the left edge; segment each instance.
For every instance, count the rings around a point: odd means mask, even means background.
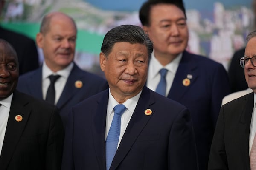
[[[61,117],[53,105],[16,91],[18,75],[14,48],[0,39],[0,169],[58,170]]]

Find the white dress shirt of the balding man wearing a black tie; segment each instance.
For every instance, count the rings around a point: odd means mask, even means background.
[[[74,66],[74,63],[71,62],[70,65],[68,65],[66,68],[64,68],[63,70],[57,71],[57,72],[53,72],[51,69],[49,69],[49,67],[45,64],[45,62],[43,63],[42,66],[42,92],[43,92],[43,99],[46,98],[46,94],[47,94],[47,90],[48,87],[50,85],[50,79],[48,78],[50,75],[54,74],[58,74],[61,77],[58,78],[55,82],[55,105],[58,102],[58,99],[61,96],[61,93],[66,85],[67,82],[67,78],[70,75],[70,72],[72,70]]]

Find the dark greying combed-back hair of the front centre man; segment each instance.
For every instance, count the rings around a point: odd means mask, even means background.
[[[107,32],[103,39],[101,52],[104,53],[106,57],[108,57],[116,42],[143,44],[148,49],[148,57],[151,56],[151,53],[153,51],[153,42],[151,42],[148,34],[146,34],[145,31],[139,26],[121,25],[112,28],[110,31]]]

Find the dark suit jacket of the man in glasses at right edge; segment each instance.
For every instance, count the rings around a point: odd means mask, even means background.
[[[209,170],[250,170],[249,134],[254,93],[223,105],[209,156]]]

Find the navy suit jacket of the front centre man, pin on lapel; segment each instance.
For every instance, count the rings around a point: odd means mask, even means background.
[[[65,131],[62,170],[106,170],[108,90],[73,107]],[[151,109],[146,116],[144,111]],[[144,87],[110,170],[196,170],[187,108]]]

